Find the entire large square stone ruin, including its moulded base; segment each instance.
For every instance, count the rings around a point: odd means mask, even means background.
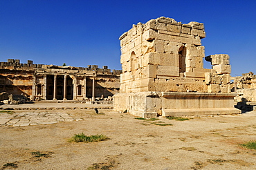
[[[160,17],[120,36],[122,74],[114,110],[140,117],[241,113],[230,91],[230,57],[205,57],[203,23]],[[212,69],[203,68],[203,58]]]

